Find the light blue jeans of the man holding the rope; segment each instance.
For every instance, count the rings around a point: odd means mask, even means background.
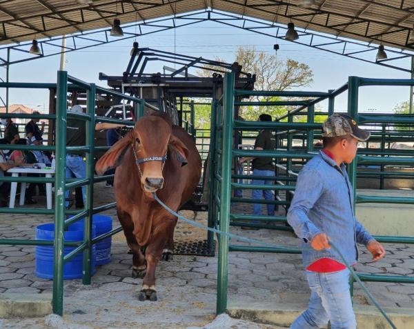
[[[308,309],[290,329],[315,329],[331,321],[332,329],[355,329],[357,323],[349,292],[349,270],[332,273],[306,271],[311,299]]]

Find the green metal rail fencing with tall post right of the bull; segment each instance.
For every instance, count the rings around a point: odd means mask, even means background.
[[[229,232],[230,226],[251,226],[257,228],[273,228],[273,229],[289,229],[285,226],[271,226],[253,223],[243,223],[245,220],[256,221],[274,221],[276,223],[285,222],[286,216],[253,216],[253,215],[234,215],[230,211],[230,202],[237,201],[237,199],[230,198],[232,188],[238,189],[264,189],[268,188],[275,191],[286,191],[286,200],[275,197],[275,203],[278,206],[285,206],[286,210],[290,203],[291,195],[294,193],[295,182],[297,174],[293,171],[293,160],[297,163],[306,163],[316,153],[313,150],[313,141],[316,136],[320,136],[321,124],[314,123],[315,118],[315,104],[328,99],[328,113],[333,113],[333,105],[335,97],[342,92],[348,91],[348,114],[351,115],[359,123],[380,123],[380,124],[403,124],[414,126],[414,115],[391,115],[391,114],[359,114],[358,113],[358,90],[362,86],[413,86],[414,80],[391,80],[391,79],[365,79],[359,77],[350,77],[348,83],[337,90],[330,90],[329,92],[272,92],[272,91],[247,91],[235,90],[234,88],[234,74],[226,73],[224,79],[224,96],[219,100],[215,111],[215,127],[212,130],[213,145],[213,170],[210,177],[211,186],[213,186],[214,199],[210,201],[212,218],[217,221],[212,221],[210,224],[219,230]],[[279,97],[313,97],[306,101],[306,103],[299,106],[296,110],[288,112],[286,116],[277,118],[274,122],[253,122],[253,121],[239,121],[234,119],[235,106],[241,106],[247,102],[235,102],[237,96],[279,96]],[[255,102],[248,102],[254,105]],[[257,106],[264,105],[283,105],[286,102],[256,102]],[[292,102],[292,105],[295,105]],[[299,104],[298,104],[299,105]],[[304,112],[306,110],[306,112]],[[306,115],[307,120],[304,123],[293,122],[295,115]],[[317,113],[317,115],[322,115]],[[287,122],[283,120],[287,119]],[[259,130],[259,129],[274,130],[279,139],[276,150],[237,150],[233,146],[234,130]],[[390,133],[391,134],[391,133]],[[411,137],[413,132],[409,133]],[[303,140],[302,148],[293,146],[294,138],[301,138]],[[384,141],[384,134],[377,134],[382,137]],[[280,139],[286,139],[286,149],[280,148],[283,144]],[[357,181],[357,163],[359,164],[380,164],[385,166],[387,164],[400,164],[407,166],[414,166],[414,157],[408,156],[407,152],[393,152],[393,156],[387,153],[387,150],[382,147],[380,152],[365,151],[366,154],[359,154],[353,163],[348,166],[348,173],[353,186],[356,186]],[[282,169],[285,175],[277,175],[270,179],[275,181],[274,185],[269,186],[255,186],[251,184],[232,183],[232,178],[246,178],[251,177],[244,175],[232,176],[232,159],[237,157],[273,157],[276,163],[284,163]],[[280,168],[280,165],[279,165]],[[398,173],[391,172],[391,175]],[[413,174],[404,175],[406,177],[414,178]],[[259,177],[259,179],[269,179],[266,177]],[[356,191],[356,190],[355,190]],[[217,193],[219,192],[219,193]],[[249,201],[252,202],[252,201]],[[255,200],[255,202],[257,202]],[[259,201],[266,203],[266,201]],[[414,198],[408,197],[377,197],[356,195],[355,203],[362,202],[381,202],[381,203],[405,203],[414,204]],[[354,207],[355,209],[355,207]],[[252,247],[252,246],[233,246],[229,243],[228,237],[219,235],[219,261],[217,269],[217,314],[224,312],[227,308],[227,283],[228,283],[228,252],[280,252],[280,253],[300,253],[298,248],[288,248],[288,250],[268,248],[268,247]],[[375,236],[375,239],[380,242],[387,243],[414,243],[414,237],[388,237]],[[365,275],[359,274],[362,281],[380,281],[380,282],[395,282],[395,283],[414,283],[413,277],[402,276],[384,276],[384,275]]]

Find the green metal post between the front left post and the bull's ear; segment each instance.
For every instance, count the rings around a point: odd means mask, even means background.
[[[92,209],[93,209],[93,175],[95,172],[94,166],[94,148],[95,148],[95,83],[90,84],[90,89],[86,91],[86,112],[90,115],[90,120],[86,121],[86,145],[89,147],[89,152],[86,153],[86,179],[89,183],[85,190],[86,209],[88,216],[84,219],[84,233],[83,242],[88,243],[88,248],[83,250],[83,284],[90,284],[91,275],[91,259],[92,259]]]

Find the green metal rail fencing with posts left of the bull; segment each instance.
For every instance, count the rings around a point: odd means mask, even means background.
[[[70,83],[70,84],[68,84]],[[55,152],[55,178],[40,177],[0,177],[0,181],[17,181],[28,183],[55,183],[55,210],[41,208],[0,208],[0,213],[14,214],[38,214],[55,216],[55,240],[23,240],[23,239],[0,239],[0,244],[23,245],[23,246],[54,246],[54,279],[53,279],[53,312],[58,315],[63,314],[63,265],[79,252],[83,252],[83,284],[90,284],[90,266],[91,266],[91,248],[97,243],[111,235],[115,235],[122,230],[121,227],[107,232],[99,237],[92,239],[92,215],[116,207],[116,203],[109,203],[104,206],[94,208],[93,206],[93,186],[94,183],[105,181],[113,175],[94,177],[94,152],[98,150],[107,150],[108,147],[95,147],[95,122],[102,123],[124,123],[130,124],[131,121],[112,119],[107,117],[95,116],[95,95],[97,92],[110,94],[119,99],[132,101],[135,104],[135,118],[144,115],[144,108],[158,110],[154,106],[146,103],[144,99],[137,99],[126,94],[121,94],[113,90],[95,86],[95,83],[86,83],[75,77],[68,76],[66,71],[57,72],[57,83],[0,83],[0,88],[52,88],[57,90],[56,114],[1,114],[1,117],[13,118],[42,118],[56,120],[56,139],[55,146],[23,146],[23,145],[0,145],[1,150],[50,150]],[[68,88],[86,90],[87,108],[86,113],[68,112],[67,94]],[[86,146],[66,146],[66,119],[78,119],[86,121]],[[86,177],[83,179],[66,179],[66,154],[67,153],[86,153]],[[85,207],[83,210],[66,210],[65,208],[65,191],[69,188],[86,186]],[[66,219],[67,215],[72,215]],[[83,241],[66,242],[63,232],[70,224],[86,218],[84,221],[84,239]],[[65,246],[75,247],[75,250],[63,255]]]

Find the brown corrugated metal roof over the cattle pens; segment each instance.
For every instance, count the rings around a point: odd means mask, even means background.
[[[209,8],[360,41],[414,49],[414,0],[0,0],[0,44],[109,28]]]

